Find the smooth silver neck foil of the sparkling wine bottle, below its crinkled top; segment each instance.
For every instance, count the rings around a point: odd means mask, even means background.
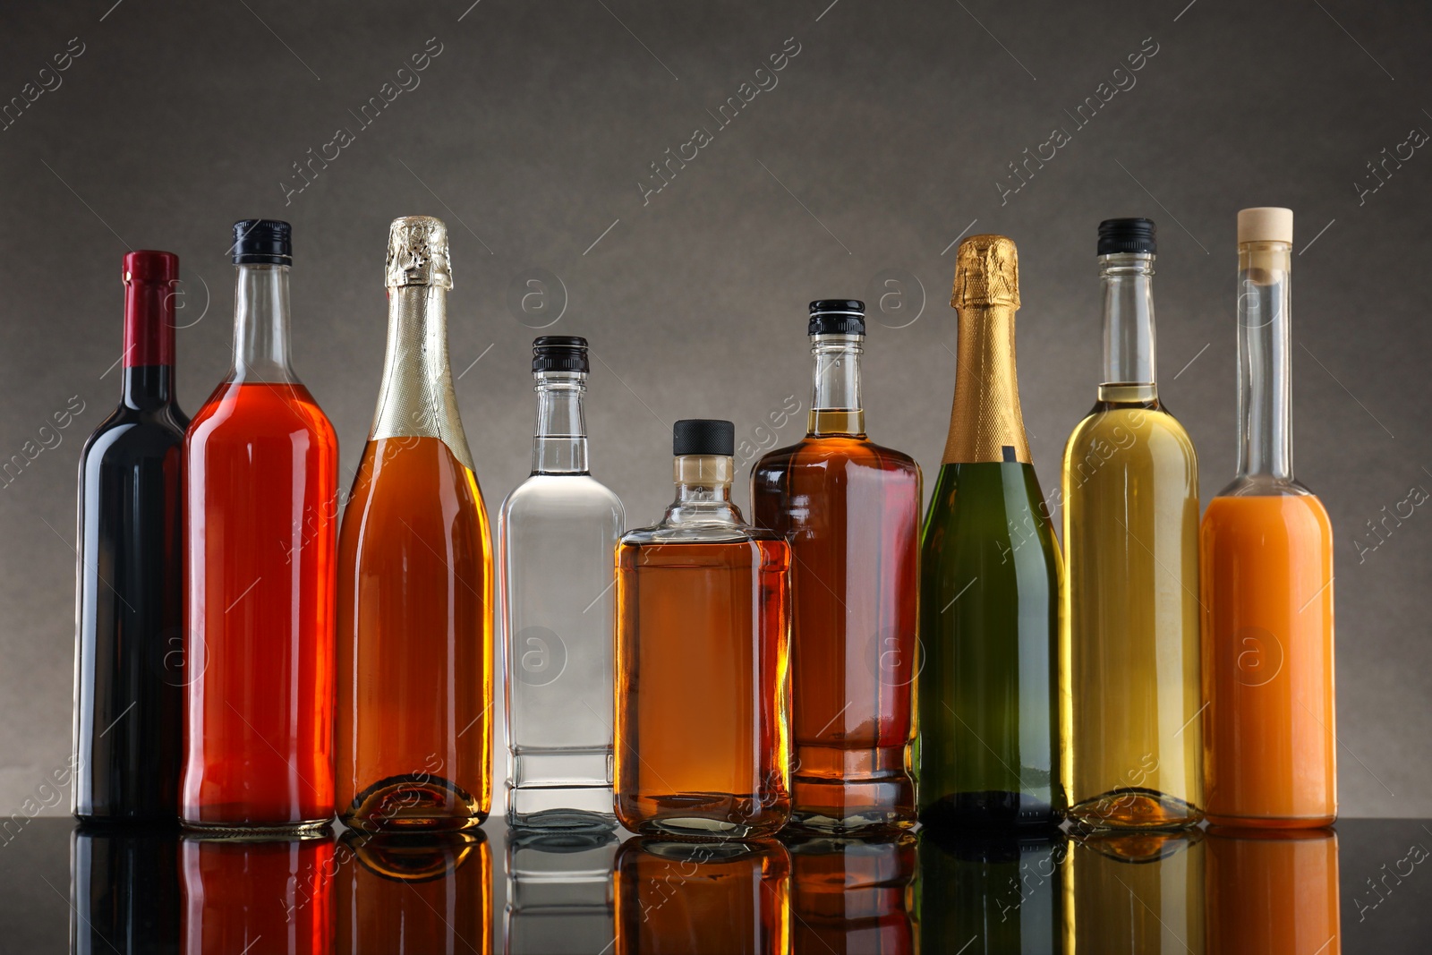
[[[437,438],[474,470],[448,364],[445,288],[388,289],[388,352],[369,435],[381,438]]]

